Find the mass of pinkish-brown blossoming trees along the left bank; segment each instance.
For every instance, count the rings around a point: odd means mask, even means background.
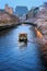
[[[16,17],[13,14],[9,14],[8,12],[5,12],[4,10],[0,9],[0,24],[4,23],[4,24],[16,24],[20,21],[19,17]]]

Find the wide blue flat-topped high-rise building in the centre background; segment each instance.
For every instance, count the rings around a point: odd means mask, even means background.
[[[27,7],[22,7],[22,5],[17,5],[15,8],[15,14],[20,17],[22,17],[24,14],[26,14],[28,12]]]

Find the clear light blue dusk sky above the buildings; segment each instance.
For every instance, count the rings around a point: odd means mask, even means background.
[[[31,9],[32,7],[40,5],[44,2],[47,2],[47,0],[0,0],[0,9],[3,9],[5,3],[13,8],[16,5],[26,5]]]

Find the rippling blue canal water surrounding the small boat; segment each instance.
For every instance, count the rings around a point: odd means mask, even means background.
[[[19,34],[27,33],[27,43]],[[45,71],[34,26],[20,25],[0,32],[0,71]]]

